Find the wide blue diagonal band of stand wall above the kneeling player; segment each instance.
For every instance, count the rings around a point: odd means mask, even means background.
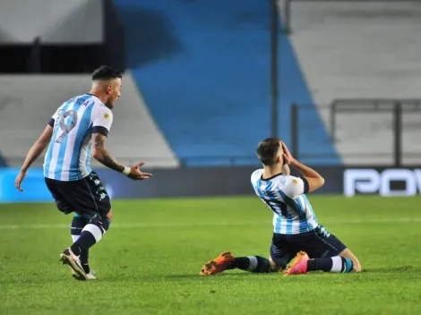
[[[268,0],[116,0],[128,67],[176,156],[188,166],[255,164],[270,135]],[[312,104],[288,37],[279,43],[279,136],[287,142],[291,102]],[[300,148],[331,153],[317,111]],[[243,158],[236,158],[243,157]],[[314,161],[313,161],[314,162]]]

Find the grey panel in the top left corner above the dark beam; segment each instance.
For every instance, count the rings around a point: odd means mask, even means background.
[[[0,0],[0,7],[0,44],[31,44],[37,37],[49,45],[104,38],[102,0]]]

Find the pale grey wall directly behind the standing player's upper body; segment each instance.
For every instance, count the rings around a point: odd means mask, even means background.
[[[176,167],[179,162],[150,116],[142,94],[125,72],[122,97],[113,109],[115,118],[108,148],[122,163],[140,158],[150,167]],[[0,76],[0,151],[9,166],[20,166],[56,108],[90,89],[90,75]],[[36,166],[41,166],[39,158]],[[99,166],[93,164],[93,166]]]

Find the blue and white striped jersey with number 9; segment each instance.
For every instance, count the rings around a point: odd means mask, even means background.
[[[90,174],[90,137],[107,136],[113,114],[99,98],[83,94],[58,107],[49,124],[53,136],[44,160],[44,176],[58,181],[76,181]]]

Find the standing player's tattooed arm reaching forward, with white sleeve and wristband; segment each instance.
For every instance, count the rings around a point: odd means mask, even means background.
[[[139,169],[144,165],[144,162],[138,163],[135,166],[124,166],[117,162],[107,150],[106,142],[108,131],[113,122],[113,114],[107,107],[101,107],[99,112],[95,114],[92,127],[92,157],[99,161],[104,166],[123,173],[133,180],[142,180],[150,178],[151,174],[142,173]]]

